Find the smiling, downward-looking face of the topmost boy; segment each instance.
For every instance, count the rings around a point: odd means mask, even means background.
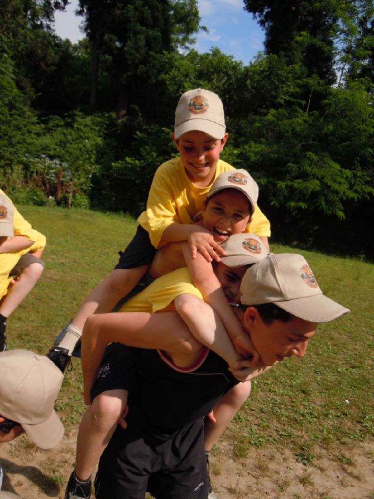
[[[214,178],[219,155],[226,143],[228,134],[216,140],[204,132],[193,130],[184,133],[179,139],[172,139],[176,145],[189,180],[197,187],[208,186]]]

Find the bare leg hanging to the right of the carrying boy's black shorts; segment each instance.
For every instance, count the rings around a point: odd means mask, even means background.
[[[231,423],[240,407],[247,400],[251,392],[251,382],[238,383],[229,390],[224,397],[214,407],[213,413],[215,423],[209,418],[205,418],[205,450],[210,451],[219,437]]]

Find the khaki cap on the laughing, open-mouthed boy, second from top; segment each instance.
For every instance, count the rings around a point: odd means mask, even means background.
[[[212,183],[206,199],[211,198],[218,191],[223,189],[237,189],[248,198],[254,212],[258,199],[258,185],[244,169],[229,170],[218,175]]]

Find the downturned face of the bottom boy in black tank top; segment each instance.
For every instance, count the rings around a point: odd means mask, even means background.
[[[292,355],[304,357],[308,342],[318,326],[316,322],[308,322],[295,316],[288,322],[274,320],[266,324],[255,307],[247,307],[240,315],[239,320],[250,334],[262,364],[267,366]]]

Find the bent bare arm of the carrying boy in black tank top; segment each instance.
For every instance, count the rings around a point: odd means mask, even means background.
[[[82,333],[82,371],[85,403],[108,343],[119,342],[136,348],[158,348],[184,354],[193,364],[201,344],[194,339],[177,312],[118,312],[92,315]]]

